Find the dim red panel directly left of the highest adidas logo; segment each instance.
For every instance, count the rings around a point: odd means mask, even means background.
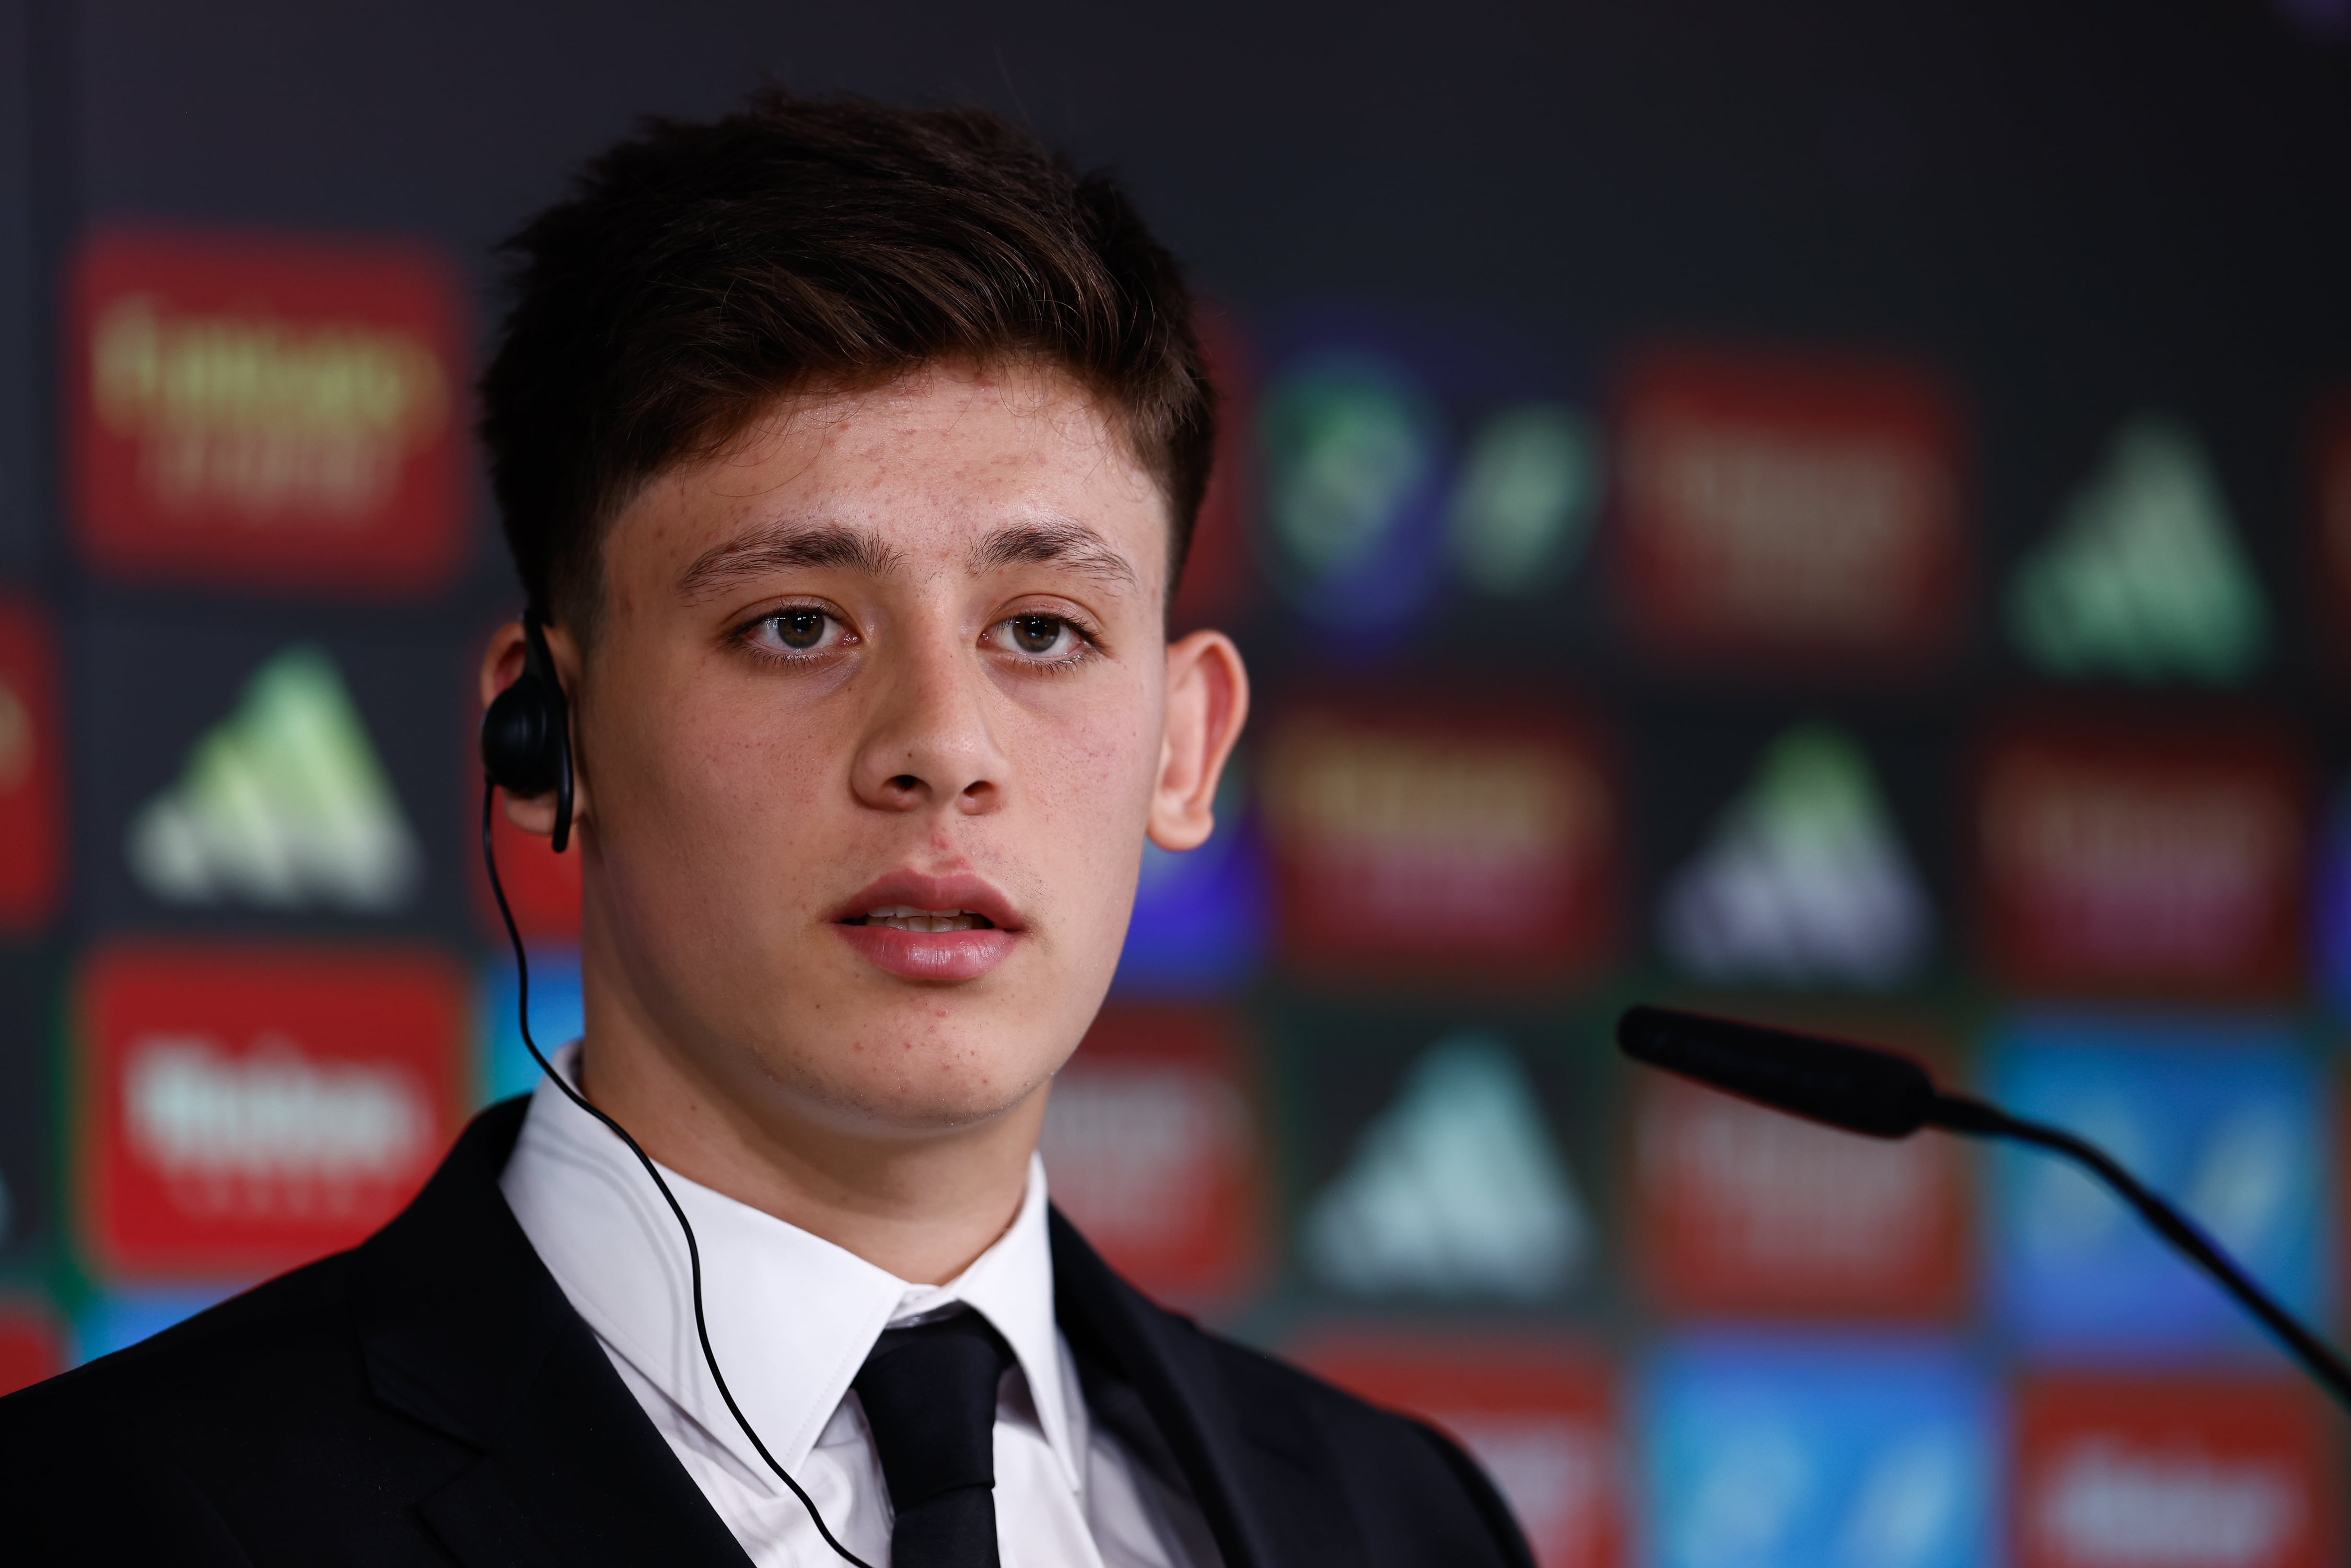
[[[1881,668],[1949,649],[1961,425],[1925,374],[1650,353],[1622,383],[1617,440],[1627,604],[1653,651]]]

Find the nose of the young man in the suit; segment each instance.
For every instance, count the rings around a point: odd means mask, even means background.
[[[955,637],[926,642],[889,661],[849,788],[877,811],[985,816],[1002,806],[1009,778],[987,724],[985,675]]]

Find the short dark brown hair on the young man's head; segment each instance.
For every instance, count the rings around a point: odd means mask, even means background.
[[[1168,503],[1168,592],[1215,395],[1176,259],[1103,172],[980,108],[762,92],[644,120],[501,254],[482,442],[534,609],[592,635],[602,536],[654,475],[776,397],[1034,362],[1105,409]]]

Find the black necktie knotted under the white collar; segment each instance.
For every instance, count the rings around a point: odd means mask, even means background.
[[[997,1568],[997,1382],[1013,1352],[978,1312],[889,1328],[858,1371],[898,1523],[891,1568]]]

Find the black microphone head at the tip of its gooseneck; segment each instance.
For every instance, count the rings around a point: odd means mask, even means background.
[[[1907,1056],[1733,1018],[1636,1006],[1617,1018],[1617,1044],[1636,1063],[1869,1138],[1909,1138],[1937,1100]]]

